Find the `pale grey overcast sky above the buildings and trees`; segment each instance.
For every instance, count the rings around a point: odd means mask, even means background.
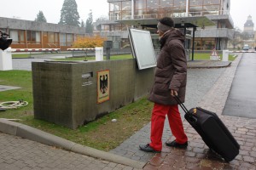
[[[0,17],[19,18],[21,20],[35,20],[39,10],[43,11],[49,23],[58,23],[61,18],[61,8],[64,0],[3,0]],[[234,25],[241,31],[247,16],[253,17],[254,30],[256,30],[256,0],[230,0],[230,15]],[[93,19],[102,15],[108,16],[108,0],[76,0],[80,20],[86,20],[90,9]],[[1,26],[0,26],[1,27]]]

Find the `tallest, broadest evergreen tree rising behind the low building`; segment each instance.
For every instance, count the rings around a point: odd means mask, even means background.
[[[61,8],[61,20],[59,24],[69,26],[79,26],[78,5],[75,0],[64,0]]]

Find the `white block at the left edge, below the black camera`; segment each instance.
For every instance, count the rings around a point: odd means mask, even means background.
[[[0,49],[0,71],[13,70],[13,60],[11,48],[7,48],[4,51]]]

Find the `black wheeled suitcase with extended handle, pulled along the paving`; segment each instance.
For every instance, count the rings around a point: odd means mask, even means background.
[[[177,96],[175,99],[185,111],[185,119],[201,135],[207,146],[222,156],[225,161],[235,159],[239,154],[240,145],[218,116],[200,107],[188,111]]]

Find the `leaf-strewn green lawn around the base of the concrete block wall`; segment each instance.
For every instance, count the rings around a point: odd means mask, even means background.
[[[112,150],[140,130],[150,121],[153,107],[148,99],[139,99],[131,105],[126,105],[107,116],[72,130],[34,119],[31,71],[0,71],[0,84],[20,87],[20,89],[0,92],[0,103],[19,99],[28,102],[24,107],[1,111],[1,118],[20,119],[20,123],[98,150]],[[117,122],[112,122],[113,118],[117,119]]]

